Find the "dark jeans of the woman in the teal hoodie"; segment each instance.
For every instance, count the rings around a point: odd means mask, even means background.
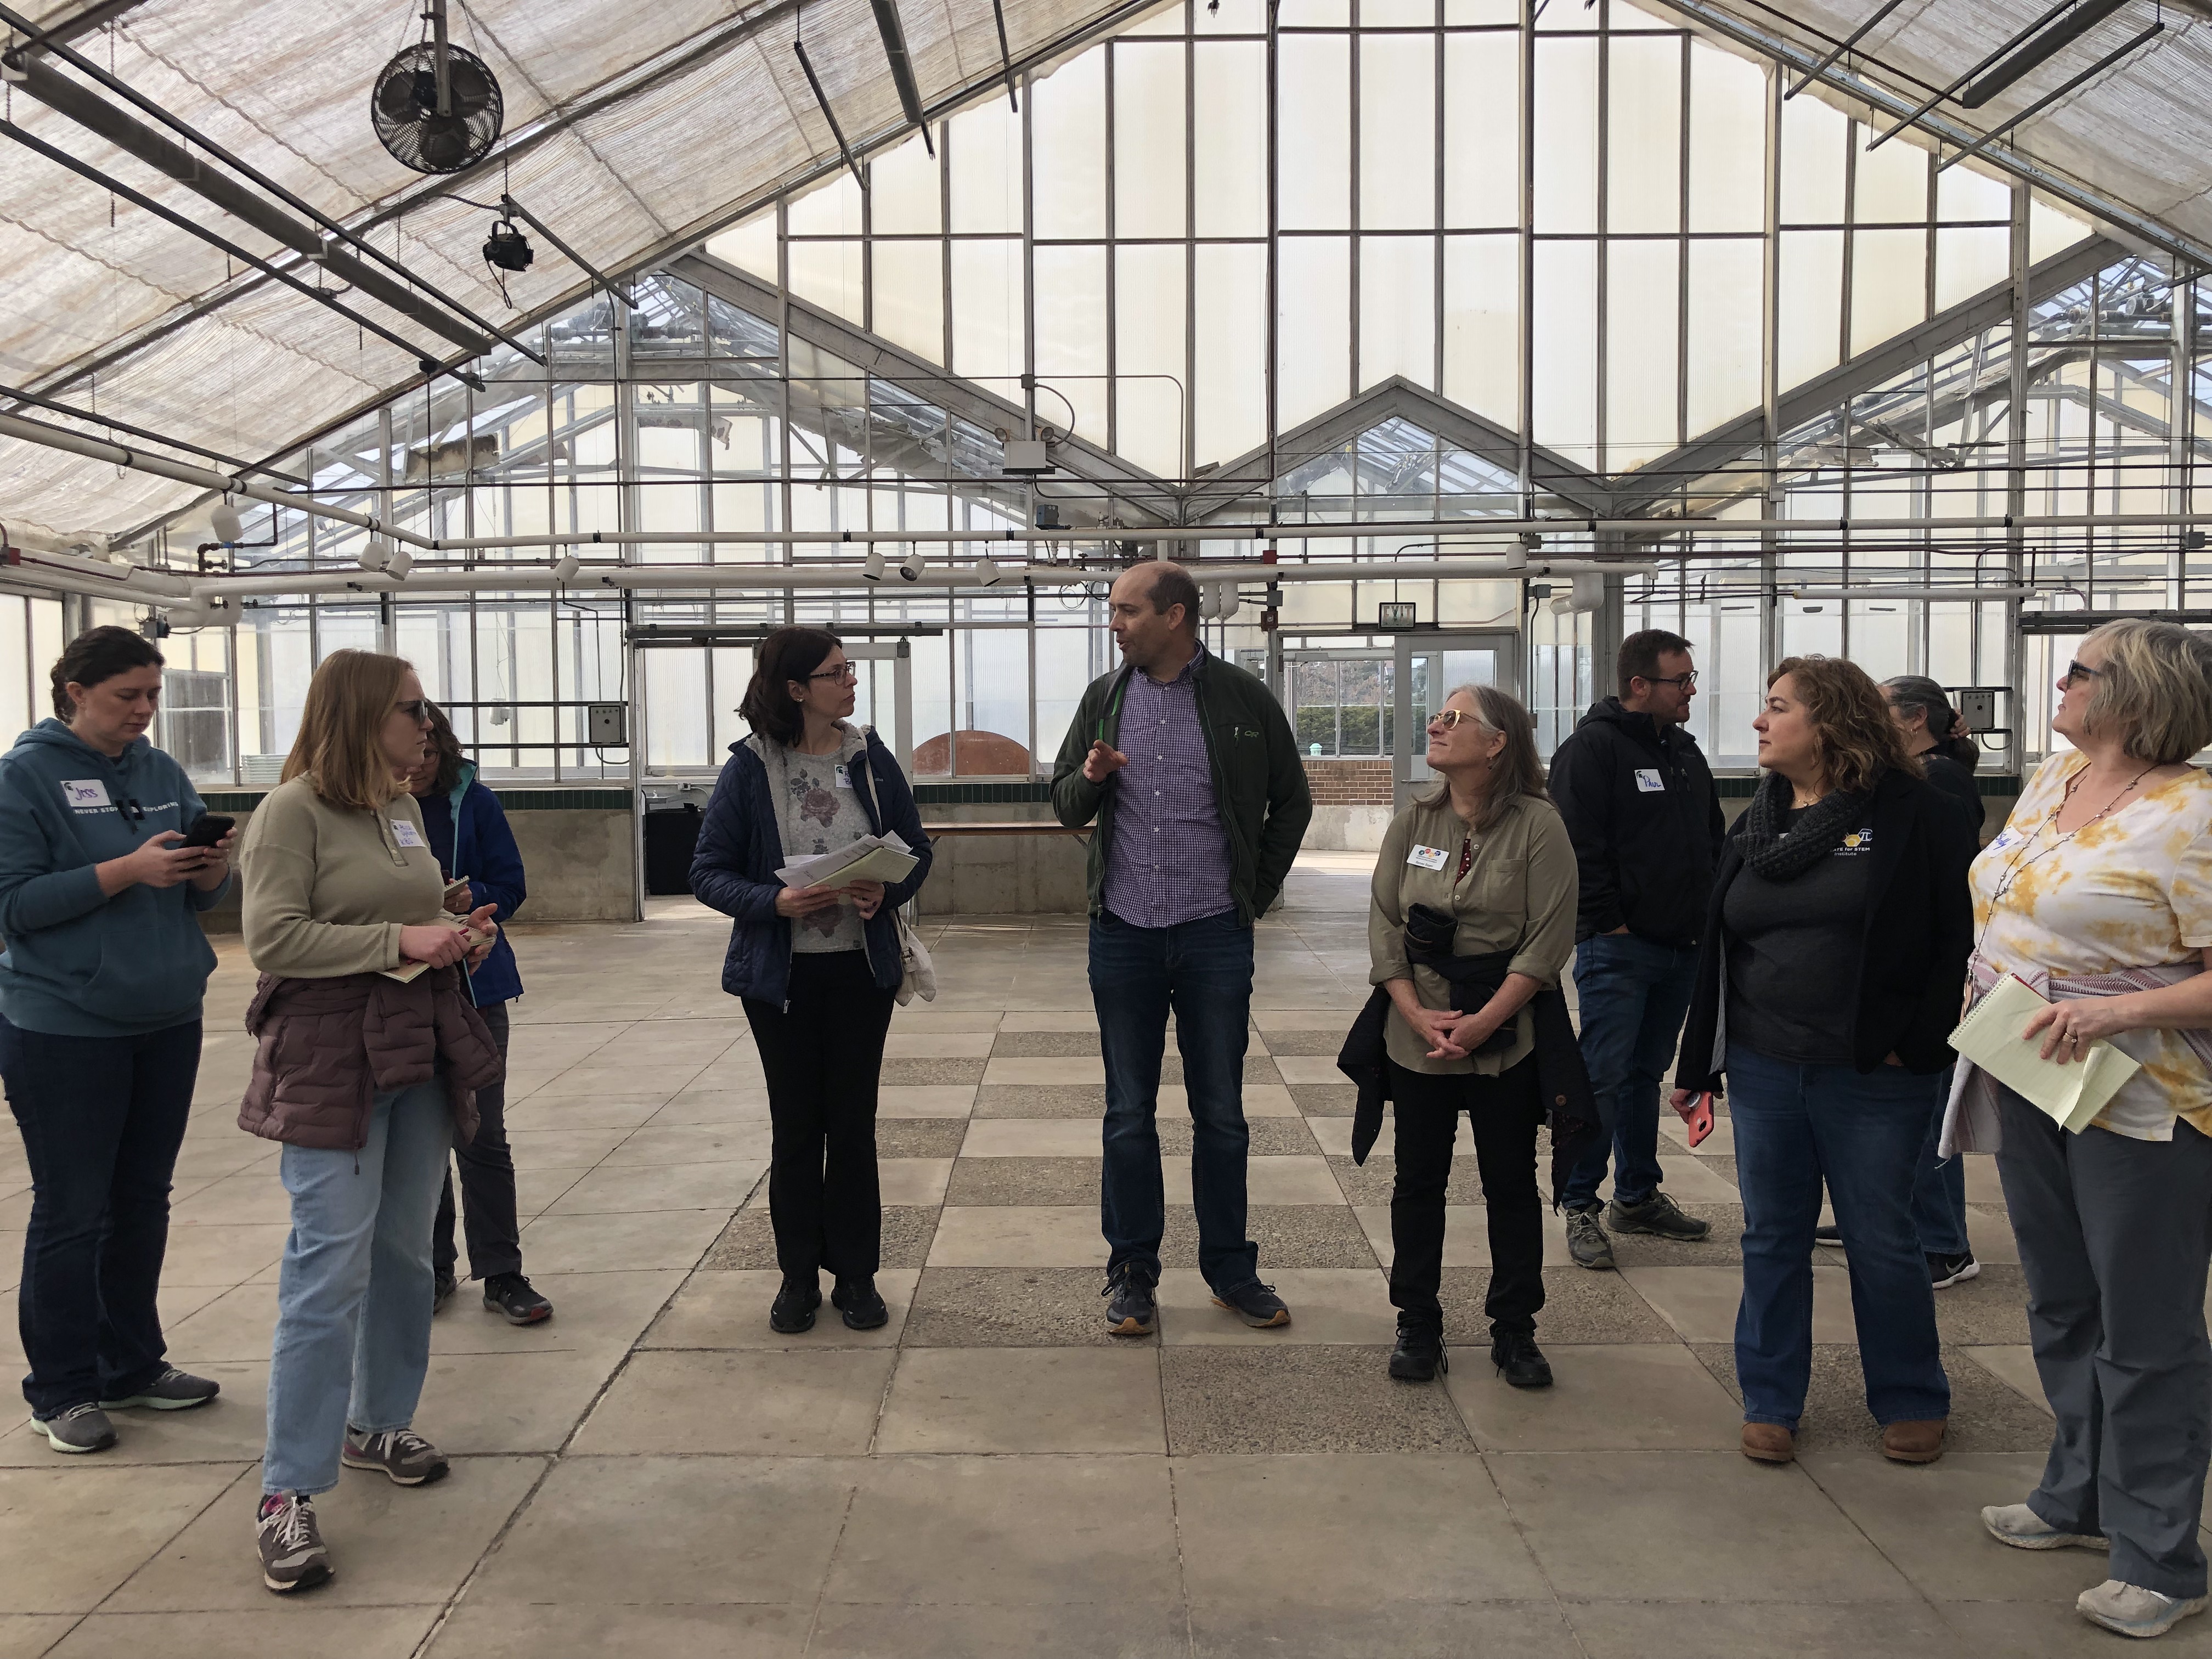
[[[137,1394],[168,1354],[155,1292],[199,1020],[144,1037],[58,1037],[0,1020],[0,1077],[31,1161],[15,1292],[31,1360],[22,1398],[51,1418]]]

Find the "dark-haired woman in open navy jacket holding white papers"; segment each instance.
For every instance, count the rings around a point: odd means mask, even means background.
[[[785,1336],[812,1329],[823,1267],[847,1327],[891,1316],[876,1292],[876,1079],[902,969],[896,914],[929,878],[929,836],[898,761],[849,721],[856,679],[821,628],[776,628],[754,648],[739,708],[752,734],[730,745],[690,876],[703,905],[734,918],[721,989],[745,1000],[768,1075],[768,1219],[783,1270],[768,1325]],[[776,880],[794,858],[885,830],[920,858],[900,883]]]

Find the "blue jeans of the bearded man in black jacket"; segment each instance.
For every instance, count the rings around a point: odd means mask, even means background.
[[[1606,1130],[1575,1159],[1566,1208],[1595,1210],[1613,1155],[1613,1201],[1646,1203],[1659,1190],[1659,1079],[1674,1060],[1690,1011],[1697,951],[1635,933],[1597,933],[1575,947],[1582,1064]]]

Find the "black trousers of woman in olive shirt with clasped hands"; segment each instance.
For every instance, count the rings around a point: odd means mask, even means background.
[[[1442,1321],[1436,1287],[1444,1270],[1444,1186],[1451,1139],[1467,1113],[1475,1128],[1482,1203],[1491,1219],[1491,1334],[1535,1332],[1544,1305],[1544,1194],[1535,1186],[1535,1130],[1544,1121],[1535,1055],[1498,1077],[1438,1077],[1389,1062],[1396,1102],[1398,1177],[1389,1190],[1389,1301],[1416,1318]]]

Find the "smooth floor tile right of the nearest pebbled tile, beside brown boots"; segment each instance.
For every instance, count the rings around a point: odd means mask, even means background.
[[[1515,1389],[1489,1347],[1451,1352],[1447,1387],[1484,1451],[1734,1451],[1743,1409],[1674,1343],[1546,1343],[1553,1385]]]

